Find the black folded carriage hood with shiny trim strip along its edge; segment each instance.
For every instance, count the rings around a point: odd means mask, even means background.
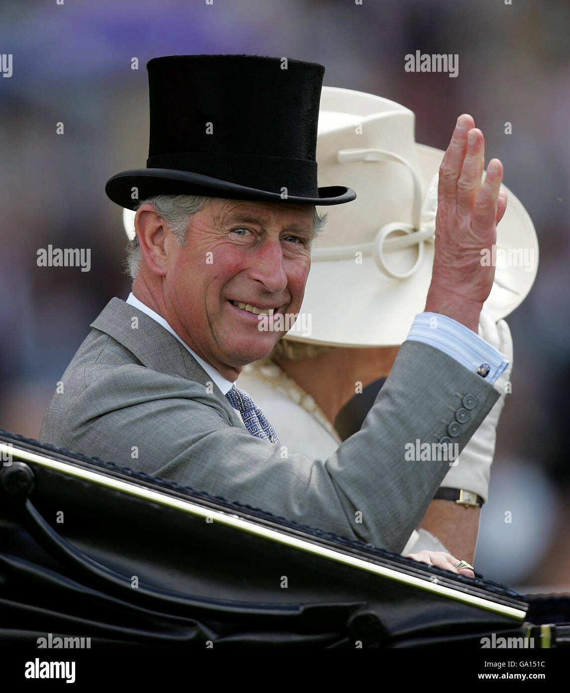
[[[479,648],[541,633],[538,602],[481,577],[6,431],[0,452],[3,642]]]

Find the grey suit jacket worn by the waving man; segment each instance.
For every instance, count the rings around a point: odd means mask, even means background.
[[[461,450],[498,398],[443,352],[407,341],[361,430],[328,459],[308,459],[249,435],[187,349],[137,308],[113,298],[91,327],[48,405],[42,441],[396,552],[449,469],[406,461],[405,445],[447,435],[472,394],[454,438]]]

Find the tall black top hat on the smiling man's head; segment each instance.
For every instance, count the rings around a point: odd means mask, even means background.
[[[257,55],[169,55],[147,63],[147,168],[123,171],[105,192],[135,209],[151,195],[342,204],[344,186],[317,186],[324,67]],[[133,189],[135,188],[135,189]]]

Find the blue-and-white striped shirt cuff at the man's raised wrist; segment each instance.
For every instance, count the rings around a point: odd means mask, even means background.
[[[440,313],[416,315],[407,338],[443,351],[491,385],[508,366],[498,349],[457,320]]]

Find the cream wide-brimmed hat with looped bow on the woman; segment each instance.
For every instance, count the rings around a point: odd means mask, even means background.
[[[287,339],[344,347],[405,341],[423,312],[432,276],[438,170],[443,151],[417,144],[415,116],[394,101],[323,87],[318,123],[319,185],[336,180],[357,198],[318,207],[328,222],[315,243],[302,313],[310,330]],[[515,195],[497,226],[495,282],[484,308],[495,321],[511,313],[533,286],[538,242]],[[123,221],[134,238],[135,213]],[[300,322],[300,321],[297,321]],[[304,326],[309,321],[304,321]]]

